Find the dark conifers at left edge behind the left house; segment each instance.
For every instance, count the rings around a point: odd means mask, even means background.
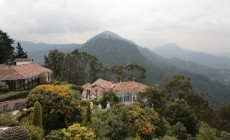
[[[0,64],[14,60],[15,58],[27,58],[27,53],[24,52],[21,44],[18,42],[13,46],[14,40],[9,35],[0,30]]]

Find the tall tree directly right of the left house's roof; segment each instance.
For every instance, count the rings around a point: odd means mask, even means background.
[[[58,49],[50,50],[48,56],[44,56],[45,67],[53,71],[54,78],[61,76],[61,71],[64,66],[65,54]]]

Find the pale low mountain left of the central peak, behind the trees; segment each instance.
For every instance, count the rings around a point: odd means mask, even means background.
[[[16,41],[20,42],[24,51],[27,52],[28,57],[33,58],[38,64],[44,64],[44,55],[48,55],[50,50],[58,49],[64,53],[71,52],[79,48],[79,44],[45,44],[33,43],[29,41]]]

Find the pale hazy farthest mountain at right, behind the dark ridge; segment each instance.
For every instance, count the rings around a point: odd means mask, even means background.
[[[216,69],[230,70],[230,58],[228,57],[185,50],[180,48],[177,44],[166,44],[152,49],[152,51],[165,58],[179,58]]]

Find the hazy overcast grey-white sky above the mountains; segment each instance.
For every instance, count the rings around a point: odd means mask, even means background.
[[[230,52],[230,0],[0,0],[11,38],[84,43],[112,31],[143,47]]]

